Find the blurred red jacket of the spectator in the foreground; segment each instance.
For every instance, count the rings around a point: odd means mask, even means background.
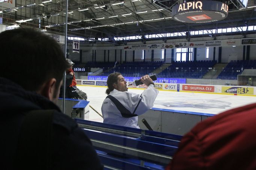
[[[256,104],[197,124],[166,170],[256,170]]]

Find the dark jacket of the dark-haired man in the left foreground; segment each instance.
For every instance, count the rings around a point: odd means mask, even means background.
[[[17,159],[20,158],[16,157],[16,152],[19,130],[25,113],[31,110],[48,109],[55,110],[50,142],[50,169],[103,169],[90,139],[70,117],[60,111],[58,106],[42,95],[26,91],[8,79],[0,78],[0,153],[2,155],[0,164],[2,169],[19,167]],[[40,153],[36,151],[31,153],[22,158],[27,160],[27,166],[19,169],[40,169],[41,165],[30,166],[33,158]]]

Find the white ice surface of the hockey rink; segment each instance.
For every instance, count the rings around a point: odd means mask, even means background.
[[[78,88],[87,93],[87,100],[90,101],[90,106],[101,113],[102,102],[105,97],[107,97],[107,94],[105,94],[107,87],[79,85]],[[141,94],[144,89],[128,89],[128,91]],[[160,90],[154,102],[154,107],[160,109],[218,114],[225,110],[251,103],[256,103],[256,97]],[[89,111],[90,121],[103,122],[101,116],[99,116],[92,108],[90,108]]]

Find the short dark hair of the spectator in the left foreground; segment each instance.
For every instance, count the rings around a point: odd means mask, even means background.
[[[0,51],[4,70],[1,77],[29,91],[39,90],[51,78],[56,79],[58,87],[64,71],[69,67],[60,44],[47,34],[31,28],[0,33]]]

